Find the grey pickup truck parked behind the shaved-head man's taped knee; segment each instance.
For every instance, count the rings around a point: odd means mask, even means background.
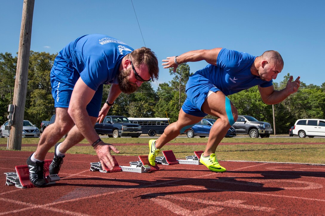
[[[232,125],[236,134],[249,134],[251,138],[269,138],[273,129],[270,123],[260,122],[249,115],[239,115],[237,121]]]

